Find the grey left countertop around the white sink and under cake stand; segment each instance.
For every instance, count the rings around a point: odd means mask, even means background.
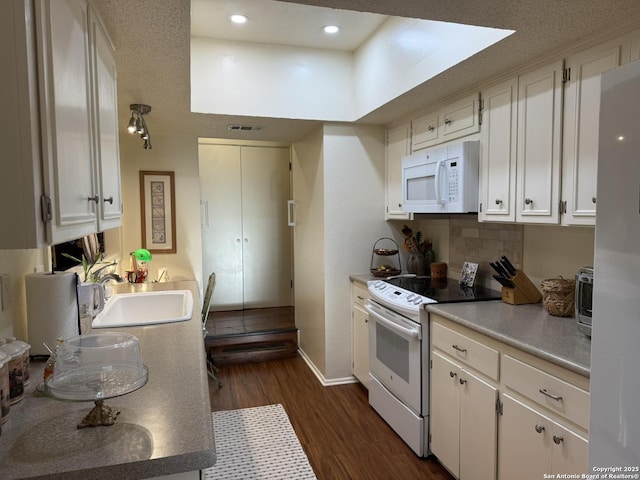
[[[44,362],[32,362],[25,398],[11,406],[2,425],[0,478],[121,480],[197,471],[215,463],[196,282],[114,286],[120,293],[174,289],[192,291],[191,320],[110,329],[138,338],[149,370],[145,386],[105,400],[121,412],[114,425],[78,429],[93,403],[34,393]]]

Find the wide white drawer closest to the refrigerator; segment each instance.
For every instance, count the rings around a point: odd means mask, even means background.
[[[589,428],[589,392],[509,355],[502,361],[502,378],[508,388],[585,429]]]

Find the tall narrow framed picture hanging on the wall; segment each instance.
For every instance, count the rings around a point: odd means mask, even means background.
[[[140,172],[142,247],[176,253],[176,195],[173,172]]]

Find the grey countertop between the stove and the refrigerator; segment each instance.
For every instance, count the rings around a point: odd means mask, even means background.
[[[510,305],[497,300],[430,304],[425,308],[579,375],[590,376],[591,340],[578,331],[575,318],[549,315],[542,303]]]

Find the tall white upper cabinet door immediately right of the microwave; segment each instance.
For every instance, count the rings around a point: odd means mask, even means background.
[[[518,79],[482,92],[480,221],[515,220]]]

